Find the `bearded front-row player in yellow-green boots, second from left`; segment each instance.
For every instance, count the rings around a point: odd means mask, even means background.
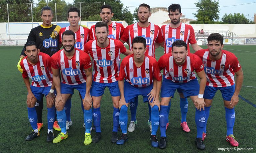
[[[90,56],[82,50],[75,48],[75,33],[71,30],[62,33],[62,44],[64,49],[59,50],[51,57],[53,82],[57,91],[55,106],[57,109],[57,120],[61,128],[61,132],[53,139],[53,143],[58,143],[68,138],[66,131],[67,117],[64,106],[67,99],[74,94],[74,89],[77,89],[83,98],[85,123],[92,124],[92,116],[87,118],[85,115],[87,112],[92,111],[90,107],[86,107],[87,103],[92,105],[92,98],[90,96],[92,62]],[[59,70],[61,71],[61,83]],[[87,127],[91,126],[88,125]]]

